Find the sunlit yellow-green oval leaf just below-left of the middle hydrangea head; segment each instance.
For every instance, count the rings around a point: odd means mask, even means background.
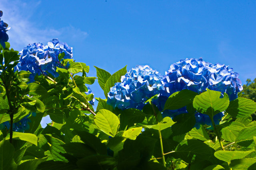
[[[120,125],[118,117],[106,109],[99,110],[94,116],[94,121],[100,130],[112,137],[116,135]]]

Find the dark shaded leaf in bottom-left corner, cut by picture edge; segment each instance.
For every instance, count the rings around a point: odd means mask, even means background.
[[[14,155],[14,147],[9,141],[3,140],[0,142],[0,170],[10,169],[10,164]]]

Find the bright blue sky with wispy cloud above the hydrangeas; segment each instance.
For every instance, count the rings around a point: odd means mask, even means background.
[[[202,57],[230,65],[243,83],[256,78],[256,1],[1,0],[2,20],[17,50],[53,38],[73,47],[74,59],[111,74],[148,64]],[[91,86],[104,98],[97,80]]]

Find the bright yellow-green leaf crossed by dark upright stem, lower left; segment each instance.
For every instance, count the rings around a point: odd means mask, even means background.
[[[20,132],[13,132],[13,139],[19,139],[22,141],[28,141],[34,145],[37,146],[37,137],[36,135],[32,134],[32,133],[20,133]],[[6,137],[6,140],[10,139],[10,135],[8,134],[8,136]]]

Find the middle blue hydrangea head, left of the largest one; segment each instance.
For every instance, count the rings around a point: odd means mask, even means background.
[[[119,109],[142,109],[148,98],[164,90],[161,78],[158,71],[148,65],[137,65],[110,88],[107,104]]]

